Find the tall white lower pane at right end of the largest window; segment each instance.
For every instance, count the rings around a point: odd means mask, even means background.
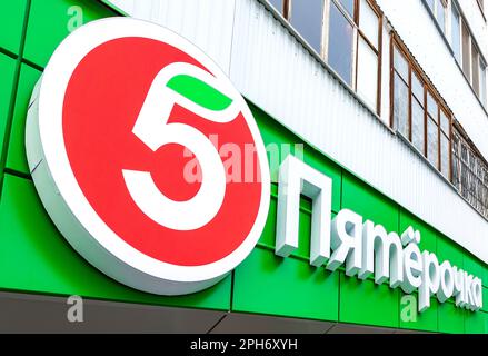
[[[369,44],[359,37],[358,43],[358,95],[371,108],[377,107],[378,97],[378,57]]]

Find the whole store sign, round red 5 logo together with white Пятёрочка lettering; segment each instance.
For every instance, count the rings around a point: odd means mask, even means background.
[[[58,229],[128,286],[163,295],[205,289],[262,233],[270,177],[253,117],[205,53],[159,26],[106,19],[70,34],[36,86],[26,137],[36,188]],[[246,157],[231,170],[229,145]],[[331,220],[331,191],[329,177],[285,159],[277,255],[298,248],[305,195],[312,200],[310,265],[345,265],[348,276],[418,291],[420,312],[431,296],[482,307],[481,279],[420,251],[412,227],[399,236],[348,209]]]

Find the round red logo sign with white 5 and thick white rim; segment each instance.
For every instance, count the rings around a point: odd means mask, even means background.
[[[160,26],[113,18],[73,31],[34,89],[26,136],[58,229],[128,286],[201,290],[260,237],[270,178],[255,119],[212,60]],[[212,136],[252,151],[253,179],[228,179]]]

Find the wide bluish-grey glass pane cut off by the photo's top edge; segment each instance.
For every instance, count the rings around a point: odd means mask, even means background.
[[[323,0],[293,1],[290,22],[305,40],[320,53],[322,41]]]

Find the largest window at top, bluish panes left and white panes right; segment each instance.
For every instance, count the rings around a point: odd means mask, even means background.
[[[270,3],[379,113],[381,14],[375,1],[271,0]]]

